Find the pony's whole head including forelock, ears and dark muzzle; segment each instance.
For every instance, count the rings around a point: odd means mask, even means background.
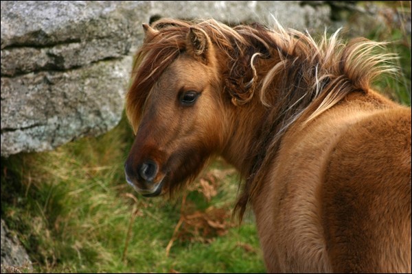
[[[225,108],[209,35],[187,23],[144,25],[126,112],[137,132],[126,179],[146,197],[190,182],[222,148]]]

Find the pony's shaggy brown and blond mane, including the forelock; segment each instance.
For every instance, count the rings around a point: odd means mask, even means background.
[[[242,108],[259,100],[267,119],[259,132],[260,142],[247,148],[251,170],[236,204],[240,218],[263,182],[284,132],[297,119],[307,124],[341,101],[350,92],[367,93],[380,73],[393,73],[395,55],[379,53],[385,42],[356,38],[343,42],[339,30],[319,42],[308,33],[273,29],[262,25],[228,27],[214,20],[162,19],[152,25],[158,32],[145,41],[133,66],[133,84],[126,97],[126,114],[137,131],[146,98],[159,76],[186,50],[190,27],[203,29],[210,37],[224,68],[222,92]]]

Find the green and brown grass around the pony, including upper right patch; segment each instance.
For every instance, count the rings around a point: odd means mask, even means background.
[[[376,27],[369,38],[395,41],[389,51],[400,54],[403,76],[377,84],[411,105],[411,35]],[[145,199],[124,179],[132,142],[122,119],[98,138],[1,159],[1,218],[36,272],[265,271],[253,215],[242,225],[231,219],[239,181],[231,166],[212,162],[172,201]]]

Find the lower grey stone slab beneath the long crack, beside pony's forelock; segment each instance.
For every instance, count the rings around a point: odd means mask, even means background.
[[[63,73],[1,77],[2,155],[53,149],[114,127],[122,116],[131,62],[128,57]]]

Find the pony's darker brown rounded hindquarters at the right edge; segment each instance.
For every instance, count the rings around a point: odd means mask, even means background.
[[[411,272],[411,111],[372,114],[339,138],[321,190],[338,273]]]

